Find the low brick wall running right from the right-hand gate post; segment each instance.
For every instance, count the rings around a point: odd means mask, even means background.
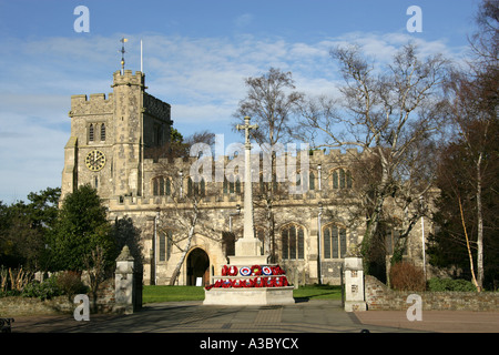
[[[421,296],[424,311],[499,311],[499,292],[393,291],[370,275],[366,275],[365,283],[368,311],[406,311],[410,294]]]

